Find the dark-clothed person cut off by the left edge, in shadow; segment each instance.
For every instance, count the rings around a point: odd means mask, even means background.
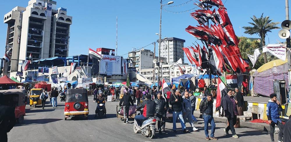
[[[7,133],[16,123],[14,109],[4,105],[4,96],[0,94],[0,141],[7,142]]]

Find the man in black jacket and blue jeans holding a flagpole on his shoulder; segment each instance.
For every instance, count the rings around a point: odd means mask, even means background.
[[[170,103],[172,105],[172,110],[173,110],[173,132],[177,132],[176,121],[177,121],[177,117],[179,117],[182,130],[184,133],[186,133],[186,125],[184,123],[183,113],[182,113],[182,102],[183,102],[183,98],[181,96],[180,90],[177,89],[175,94],[171,94],[170,96]]]

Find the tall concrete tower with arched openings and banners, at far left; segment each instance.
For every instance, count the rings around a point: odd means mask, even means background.
[[[28,6],[15,7],[4,15],[7,26],[6,52],[10,62],[4,63],[3,75],[20,71],[23,60],[68,56],[72,16],[66,8],[56,9],[56,1],[30,0]]]

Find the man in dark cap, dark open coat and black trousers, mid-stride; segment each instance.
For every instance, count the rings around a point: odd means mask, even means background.
[[[237,119],[237,101],[233,98],[232,90],[227,89],[227,95],[222,98],[222,104],[224,109],[224,116],[227,118],[229,125],[224,128],[224,132],[226,132],[226,135],[229,135],[228,131],[231,130],[231,133],[233,134],[234,138],[239,138],[235,134],[235,128],[233,127],[236,123]]]

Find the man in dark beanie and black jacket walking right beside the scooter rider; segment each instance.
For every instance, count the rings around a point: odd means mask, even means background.
[[[156,105],[156,116],[158,120],[158,130],[159,134],[162,134],[162,129],[161,127],[165,125],[165,120],[166,120],[166,110],[167,110],[167,104],[166,100],[162,97],[162,92],[157,93],[157,98],[154,100],[155,105]],[[165,127],[164,127],[165,128]]]

